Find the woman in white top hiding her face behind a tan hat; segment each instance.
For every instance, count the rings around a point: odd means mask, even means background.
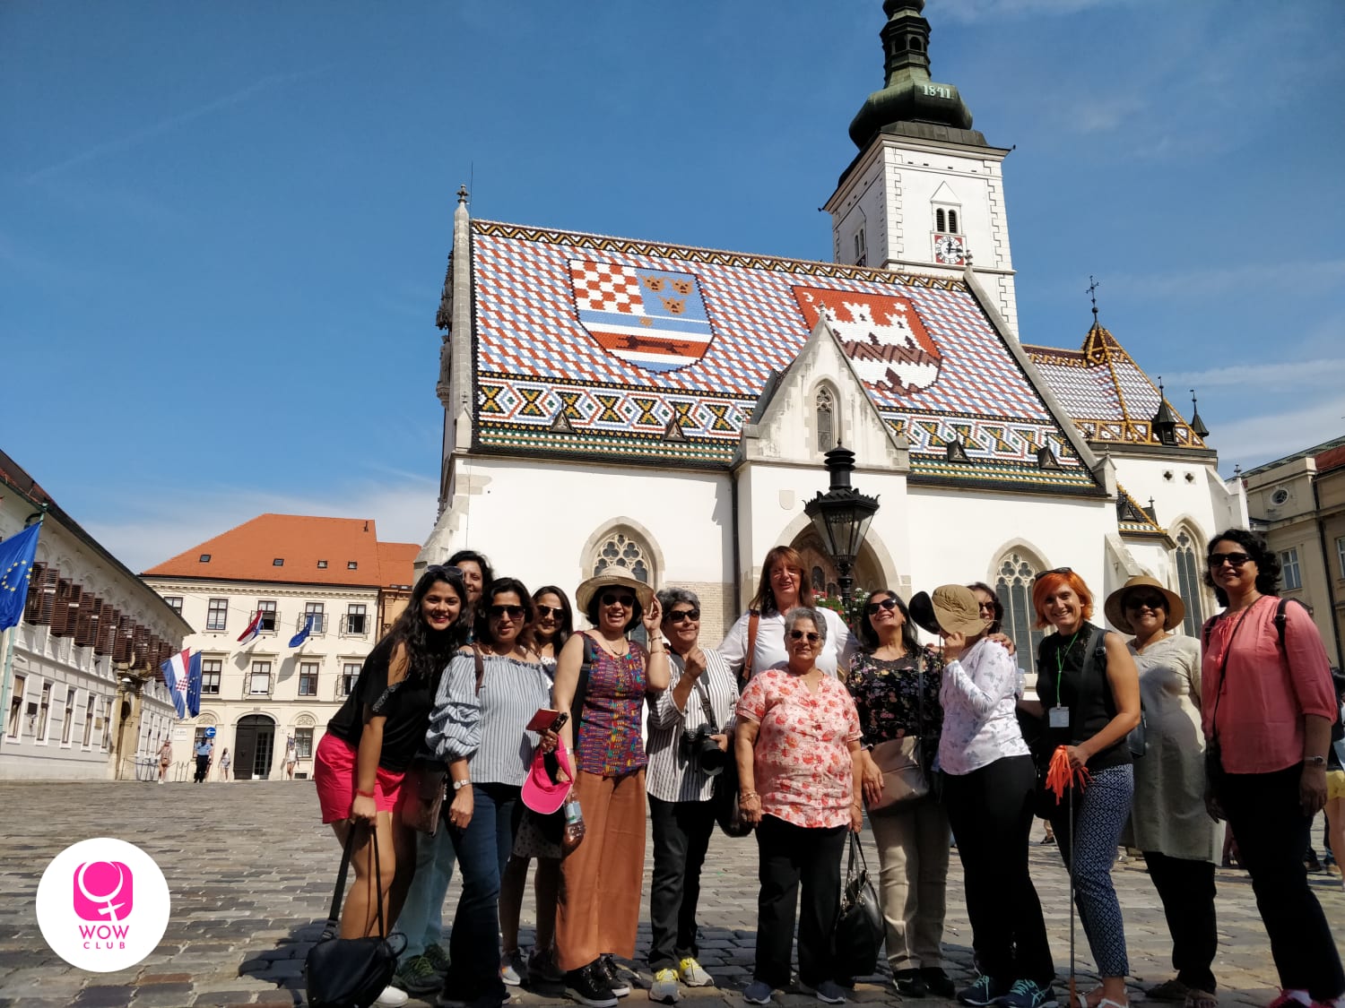
[[[1014,712],[1018,663],[989,640],[971,589],[921,591],[911,614],[944,641],[939,763],[979,970],[958,1000],[978,1008],[1054,1004],[1056,966],[1028,872],[1037,771]]]

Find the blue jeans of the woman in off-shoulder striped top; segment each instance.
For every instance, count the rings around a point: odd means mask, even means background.
[[[472,820],[467,829],[452,831],[463,894],[453,914],[448,939],[452,964],[444,993],[472,1001],[499,995],[500,980],[500,875],[514,849],[514,809],[521,788],[507,784],[472,785]],[[498,1004],[498,1001],[496,1001]]]

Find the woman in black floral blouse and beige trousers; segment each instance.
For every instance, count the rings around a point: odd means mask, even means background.
[[[921,648],[911,613],[896,591],[869,595],[859,624],[861,650],[846,685],[863,728],[863,797],[882,864],[882,915],[888,922],[888,962],[897,991],[908,997],[952,997],[943,969],[944,888],[948,880],[948,813],[933,796],[873,812],[882,796],[882,771],[870,749],[907,735],[920,739],[920,765],[939,751],[943,659]]]

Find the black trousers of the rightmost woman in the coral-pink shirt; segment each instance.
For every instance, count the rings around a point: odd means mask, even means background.
[[[1302,766],[1267,774],[1225,774],[1220,802],[1252,876],[1279,984],[1307,991],[1315,1001],[1345,993],[1341,957],[1322,905],[1307,886],[1307,831],[1298,804]]]

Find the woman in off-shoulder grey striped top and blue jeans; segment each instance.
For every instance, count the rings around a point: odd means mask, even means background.
[[[537,652],[521,641],[533,599],[515,578],[498,578],[476,607],[476,641],[448,667],[428,742],[448,763],[448,821],[463,872],[443,999],[477,1005],[507,1000],[498,964],[500,874],[514,847],[514,808],[539,739],[526,726],[551,702]]]

